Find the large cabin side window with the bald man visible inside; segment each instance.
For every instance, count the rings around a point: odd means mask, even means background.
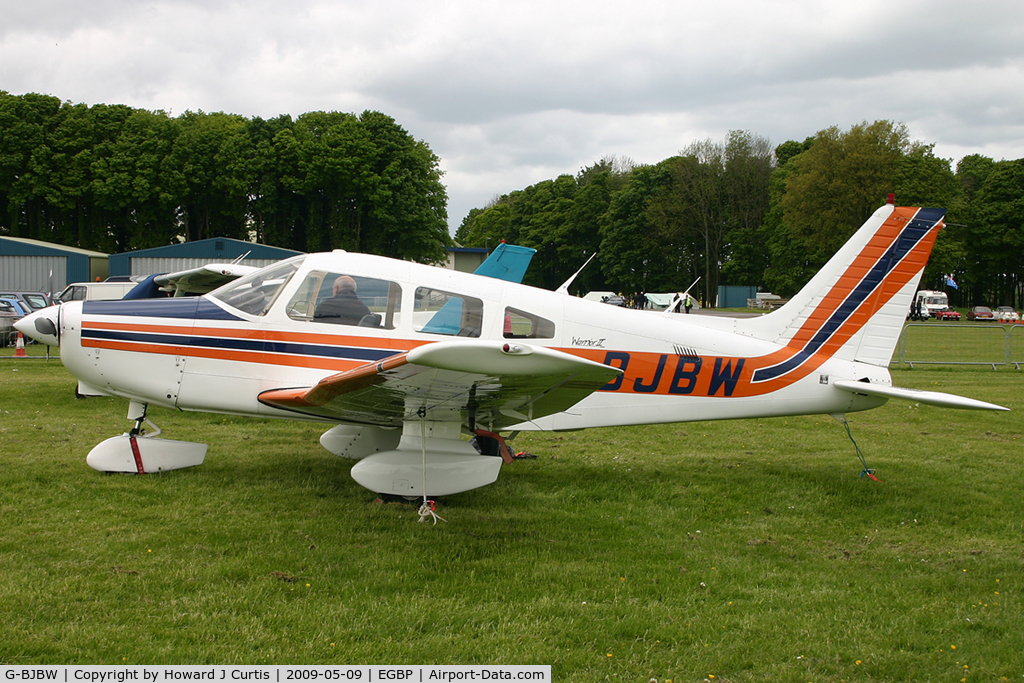
[[[393,330],[401,313],[401,287],[376,278],[313,270],[288,302],[295,321]]]

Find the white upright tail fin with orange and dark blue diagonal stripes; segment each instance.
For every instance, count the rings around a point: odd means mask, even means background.
[[[743,321],[746,334],[794,351],[755,381],[819,354],[888,367],[944,216],[887,204],[785,305]]]

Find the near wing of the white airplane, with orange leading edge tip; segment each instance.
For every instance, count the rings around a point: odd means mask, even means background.
[[[399,427],[424,419],[490,431],[568,410],[622,374],[617,368],[553,349],[501,341],[420,346],[325,378],[316,386],[273,389],[260,402],[305,415]]]

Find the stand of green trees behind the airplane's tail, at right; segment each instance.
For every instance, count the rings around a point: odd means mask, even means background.
[[[957,305],[1021,305],[1024,160],[970,156],[953,170],[889,121],[774,148],[733,131],[650,166],[603,160],[474,209],[456,239],[537,248],[526,278],[541,287],[557,287],[597,252],[575,291],[677,291],[700,278],[706,303],[719,285],[788,296],[889,193],[902,206],[948,210],[923,287],[946,289],[952,274]]]

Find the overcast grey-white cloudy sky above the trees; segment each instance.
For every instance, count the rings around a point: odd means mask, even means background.
[[[606,156],[750,130],[906,123],[1024,157],[1021,0],[0,0],[0,90],[73,102],[392,116],[449,222]]]

